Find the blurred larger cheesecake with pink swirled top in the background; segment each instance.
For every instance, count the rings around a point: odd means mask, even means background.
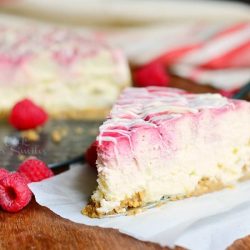
[[[58,118],[100,118],[130,85],[119,49],[80,30],[0,23],[0,116],[30,98]]]

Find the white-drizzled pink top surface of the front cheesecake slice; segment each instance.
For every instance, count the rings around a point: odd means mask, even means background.
[[[108,120],[100,127],[99,145],[103,141],[116,144],[119,134],[126,137],[131,146],[131,131],[138,127],[157,128],[187,113],[197,114],[204,109],[231,105],[234,105],[233,102],[220,94],[190,94],[163,87],[127,88],[114,105]],[[113,137],[112,132],[115,133]]]

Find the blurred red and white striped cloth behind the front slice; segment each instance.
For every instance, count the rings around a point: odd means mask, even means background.
[[[135,28],[111,33],[132,64],[161,64],[199,84],[232,95],[250,81],[250,23]]]

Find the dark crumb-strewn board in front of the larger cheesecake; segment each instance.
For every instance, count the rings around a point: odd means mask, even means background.
[[[39,132],[38,141],[29,141],[7,122],[0,123],[1,167],[16,170],[25,157],[36,156],[50,167],[83,160],[86,148],[95,140],[102,121],[52,120]],[[52,140],[55,130],[66,130],[59,143]],[[82,131],[81,131],[82,130]]]

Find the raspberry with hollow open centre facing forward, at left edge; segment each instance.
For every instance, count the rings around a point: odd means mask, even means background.
[[[18,173],[10,173],[0,180],[0,205],[8,212],[18,212],[31,200],[32,193],[25,179]]]

